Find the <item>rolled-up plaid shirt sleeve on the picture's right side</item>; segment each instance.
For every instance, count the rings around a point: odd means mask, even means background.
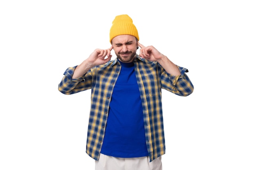
[[[167,91],[171,91],[172,93],[180,96],[188,96],[193,93],[194,86],[189,79],[188,69],[178,66],[181,75],[171,75],[166,71],[162,71],[161,74],[161,81],[162,81],[162,88]]]

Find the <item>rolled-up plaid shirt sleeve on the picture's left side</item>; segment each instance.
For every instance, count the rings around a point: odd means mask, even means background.
[[[88,71],[85,75],[72,79],[75,68],[76,66],[67,68],[61,82],[58,84],[58,91],[65,95],[71,95],[91,88],[91,72]]]

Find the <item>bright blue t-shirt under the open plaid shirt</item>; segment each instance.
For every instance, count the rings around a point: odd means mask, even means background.
[[[122,158],[148,156],[134,63],[120,63],[122,68],[110,102],[101,153]]]

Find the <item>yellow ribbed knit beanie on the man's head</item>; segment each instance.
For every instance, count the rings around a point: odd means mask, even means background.
[[[112,39],[117,35],[133,35],[139,40],[139,34],[132,23],[132,18],[128,15],[118,15],[115,17],[115,20],[112,22],[112,26],[110,28],[110,43],[112,43]]]

